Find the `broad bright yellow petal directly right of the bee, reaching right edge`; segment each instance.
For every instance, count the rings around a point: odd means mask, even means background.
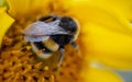
[[[91,23],[84,27],[88,28],[82,39],[87,55],[114,68],[132,69],[132,36]]]

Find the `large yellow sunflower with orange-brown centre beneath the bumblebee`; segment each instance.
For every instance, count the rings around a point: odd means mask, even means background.
[[[7,0],[7,4],[0,8],[1,82],[124,82],[117,71],[132,70],[131,0]],[[62,67],[52,71],[57,56],[46,62],[36,59],[21,33],[48,14],[69,15],[80,24],[80,52],[67,46]]]

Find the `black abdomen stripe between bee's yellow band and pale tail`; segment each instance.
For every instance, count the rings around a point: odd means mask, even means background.
[[[34,45],[35,45],[38,49],[45,49],[45,50],[44,50],[45,54],[51,54],[51,52],[53,52],[52,50],[50,50],[50,49],[43,44],[43,42],[34,42]]]

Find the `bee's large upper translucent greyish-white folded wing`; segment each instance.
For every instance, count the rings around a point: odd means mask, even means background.
[[[37,35],[56,35],[56,34],[67,34],[65,30],[59,27],[55,23],[44,23],[44,22],[35,22],[30,24],[24,31],[23,34],[30,36]]]

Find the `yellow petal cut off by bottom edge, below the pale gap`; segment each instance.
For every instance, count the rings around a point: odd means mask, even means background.
[[[113,71],[89,67],[82,70],[84,82],[123,82]]]

